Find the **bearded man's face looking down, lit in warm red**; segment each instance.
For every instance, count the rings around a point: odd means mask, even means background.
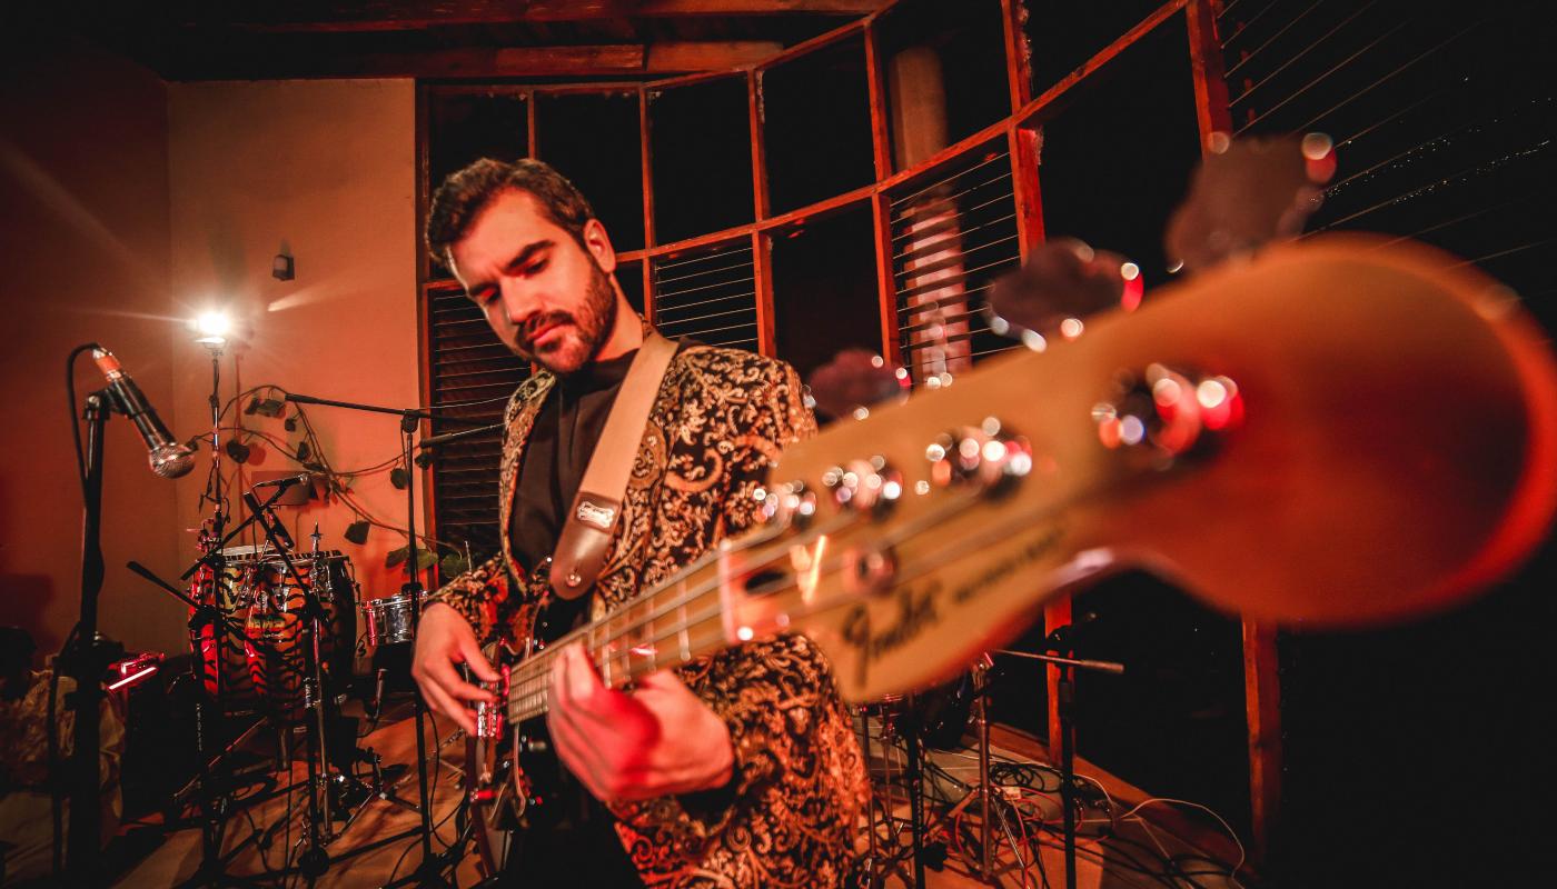
[[[617,321],[615,254],[599,223],[590,221],[584,243],[587,251],[532,195],[508,190],[453,246],[453,271],[514,353],[571,374],[595,358]]]

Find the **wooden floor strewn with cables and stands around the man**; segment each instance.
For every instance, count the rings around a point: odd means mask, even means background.
[[[438,746],[434,726],[427,724],[428,750]],[[452,736],[447,721],[436,726],[436,732],[444,741]],[[912,866],[909,863],[911,831],[908,830],[906,796],[902,794],[902,758],[900,750],[883,746],[878,727],[872,722],[873,752],[889,750],[886,758],[873,758],[872,780],[877,785],[881,803],[877,810],[877,873],[880,886],[912,886]],[[375,749],[385,763],[414,764],[416,763],[416,732],[413,719],[403,718],[386,724],[367,735],[363,746]],[[263,744],[262,744],[263,747]],[[1007,750],[996,750],[996,757],[1010,758]],[[438,827],[438,839],[433,842],[434,855],[442,853],[447,844],[456,841],[455,817],[459,800],[461,778],[458,768],[464,760],[464,744],[461,741],[445,743],[439,750],[438,763],[431,780],[431,810]],[[930,825],[926,828],[931,842],[939,842],[931,849],[931,858],[939,850],[947,850],[940,867],[925,869],[925,886],[931,889],[954,889],[962,886],[1065,886],[1065,861],[1060,850],[1059,830],[1045,831],[1042,839],[1039,819],[1053,822],[1057,819],[1057,808],[1053,800],[1042,794],[1029,792],[1028,799],[1012,799],[1004,811],[1026,811],[1029,817],[1007,817],[995,830],[993,873],[987,881],[978,880],[978,866],[972,844],[979,836],[979,805],[973,797],[961,808],[954,800],[967,796],[967,788],[958,782],[976,782],[976,757],[968,750],[936,752],[933,761],[937,764],[933,778],[928,782],[926,813]],[[961,777],[959,777],[961,775]],[[283,780],[299,782],[305,777],[304,763],[293,763],[290,774],[276,772],[268,775],[276,786],[283,786]],[[408,800],[417,797],[416,772],[406,772],[406,782],[399,788],[399,794]],[[302,786],[302,785],[299,785]],[[897,791],[892,791],[897,788]],[[1018,794],[1007,791],[1007,796]],[[288,811],[288,805],[291,806]],[[223,841],[224,873],[230,877],[258,877],[260,884],[308,884],[307,880],[293,873],[291,877],[265,877],[266,872],[282,870],[296,866],[301,852],[301,831],[305,824],[305,794],[274,792],[269,799],[252,803],[240,803],[234,816],[227,820]],[[886,819],[891,810],[892,819]],[[1101,822],[1101,824],[1099,824]],[[330,858],[325,873],[313,881],[321,887],[367,887],[388,886],[395,880],[408,880],[422,863],[419,839],[402,838],[385,842],[400,833],[413,831],[419,824],[419,816],[408,808],[392,802],[374,799],[364,803],[349,824],[338,824],[338,836],[330,841],[325,852]],[[343,830],[344,827],[344,830]],[[953,830],[956,828],[956,830]],[[1101,831],[1099,828],[1107,828]],[[1179,838],[1162,828],[1149,825],[1138,817],[1123,820],[1091,819],[1082,825],[1087,836],[1077,845],[1076,884],[1084,889],[1099,887],[1133,887],[1133,886],[1200,886],[1222,887],[1239,886],[1225,873],[1227,864],[1208,864],[1202,856]],[[1102,836],[1101,833],[1109,833]],[[953,836],[961,838],[954,841]],[[861,831],[861,853],[869,855],[870,849]],[[265,849],[260,849],[257,838],[268,838]],[[263,841],[262,841],[263,842]],[[1034,861],[1031,853],[1039,849],[1042,853]],[[892,852],[897,852],[897,861]],[[1015,852],[1021,852],[1018,859]],[[1165,861],[1180,856],[1180,872],[1193,875],[1188,878],[1168,877]],[[1183,858],[1190,856],[1190,858]],[[121,839],[117,842],[114,856],[118,864],[118,877],[114,886],[176,886],[193,878],[201,864],[201,831],[198,827],[182,827],[165,830],[157,819],[126,825]],[[1193,866],[1183,864],[1194,861]],[[458,856],[450,853],[448,861],[458,861],[453,869],[456,886],[475,886],[480,883],[475,855]],[[1221,870],[1221,873],[1218,873]],[[414,884],[414,880],[408,880]]]

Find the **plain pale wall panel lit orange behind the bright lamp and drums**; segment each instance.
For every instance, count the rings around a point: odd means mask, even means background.
[[[223,357],[224,402],[240,385],[274,383],[347,402],[420,403],[414,107],[409,79],[168,87],[174,300],[187,314],[224,305],[249,329],[249,343]],[[271,257],[283,248],[296,257],[296,280],[271,277]],[[176,346],[173,386],[181,434],[209,428],[210,358],[199,346]],[[305,409],[336,469],[397,453],[397,417]],[[299,437],[280,420],[240,411],[226,422],[234,419]],[[263,462],[254,469],[296,467],[260,447]],[[181,528],[202,515],[207,467],[202,458],[177,486]],[[405,492],[386,473],[358,481],[355,494],[378,518],[405,523]],[[347,543],[341,532],[353,515],[339,503],[282,515],[302,546],[318,522],[322,545],[352,557],[364,598],[399,592],[403,578],[383,560],[403,537],[374,529],[364,546]],[[192,536],[179,551],[193,557]]]

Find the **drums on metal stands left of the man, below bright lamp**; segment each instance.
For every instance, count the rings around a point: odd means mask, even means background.
[[[207,522],[199,536],[201,560],[190,576],[188,595],[181,596],[192,606],[190,646],[199,676],[195,685],[212,716],[257,716],[227,744],[227,754],[257,727],[271,724],[280,738],[277,768],[290,771],[286,740],[305,735],[307,778],[276,792],[307,788],[307,825],[299,839],[299,845],[307,849],[297,866],[282,873],[318,877],[330,864],[324,847],[350,827],[367,802],[380,799],[422,814],[416,803],[394,792],[409,775],[386,780],[397,768],[385,768],[372,749],[358,747],[358,719],[346,716],[343,705],[349,699],[353,660],[360,651],[358,613],[366,648],[403,646],[416,638],[416,620],[428,593],[417,584],[408,584],[397,595],[361,599],[361,584],[350,557],[321,548],[318,526],[311,534],[311,548],[294,551],[271,504],[260,503],[252,492],[244,500],[265,529],[266,542],[224,546],[232,534],[223,539],[220,522]],[[383,679],[380,671],[374,699],[364,701],[364,713],[375,722],[381,710]],[[371,766],[371,777],[360,780],[357,772],[361,763]],[[405,768],[399,766],[399,771]],[[425,768],[416,772],[422,782],[427,780]],[[202,786],[209,782],[209,772],[202,774]],[[215,806],[215,811],[224,808]],[[291,813],[288,805],[288,822]],[[257,835],[258,842],[268,844],[279,827],[271,825]],[[400,836],[419,831],[414,828]],[[341,852],[336,858],[366,849]]]

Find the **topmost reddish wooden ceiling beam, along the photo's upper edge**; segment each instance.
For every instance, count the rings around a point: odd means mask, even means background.
[[[168,16],[192,28],[268,33],[419,31],[444,25],[674,19],[688,16],[866,16],[887,0],[182,0]]]

